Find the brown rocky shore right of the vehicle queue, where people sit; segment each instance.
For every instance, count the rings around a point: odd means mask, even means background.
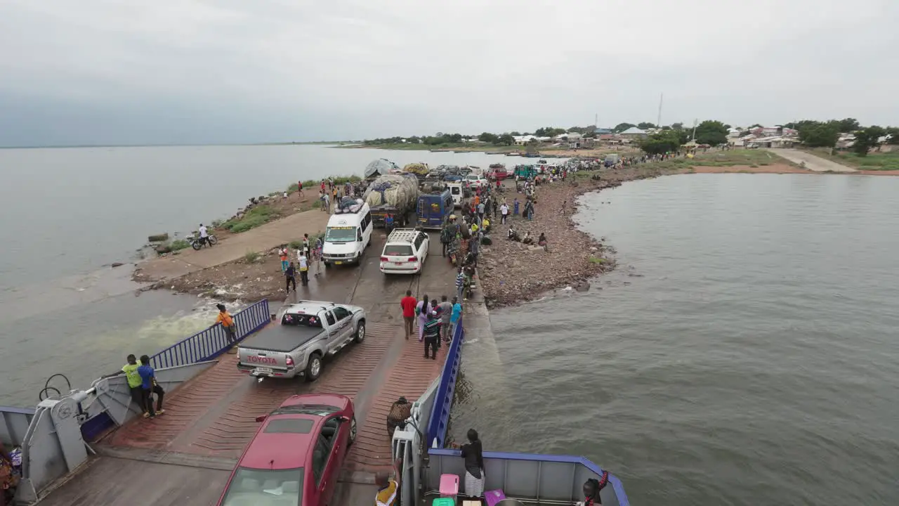
[[[680,169],[644,164],[615,171],[588,171],[569,176],[565,182],[540,185],[533,221],[513,217],[508,224],[493,221],[492,244],[482,248],[478,276],[488,307],[503,307],[539,299],[552,290],[571,287],[590,289],[590,278],[615,268],[612,250],[600,240],[578,230],[572,217],[577,212],[577,198],[589,192],[619,186],[625,181],[665,176]],[[515,194],[507,185],[506,200]],[[525,245],[506,239],[509,225],[521,235],[530,232],[536,240],[547,234],[548,248]]]

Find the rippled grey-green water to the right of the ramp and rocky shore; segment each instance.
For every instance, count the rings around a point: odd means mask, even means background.
[[[733,174],[584,196],[618,270],[491,312],[451,435],[587,456],[632,504],[899,504],[897,194]]]

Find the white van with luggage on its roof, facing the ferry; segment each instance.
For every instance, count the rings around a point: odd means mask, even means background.
[[[325,228],[325,245],[322,260],[325,267],[360,263],[365,248],[371,241],[371,210],[361,199],[341,202],[341,206],[328,219]]]

